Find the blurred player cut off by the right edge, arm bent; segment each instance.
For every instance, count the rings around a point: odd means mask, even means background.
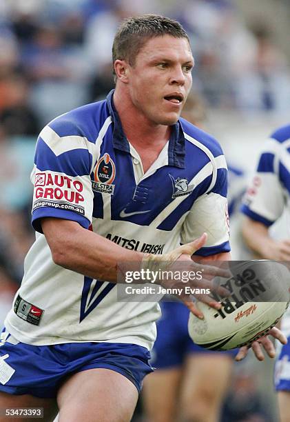
[[[242,212],[246,216],[242,234],[256,257],[290,261],[290,124],[273,132],[265,142]],[[281,329],[288,343],[276,362],[275,385],[281,422],[289,422],[290,310],[283,316]]]

